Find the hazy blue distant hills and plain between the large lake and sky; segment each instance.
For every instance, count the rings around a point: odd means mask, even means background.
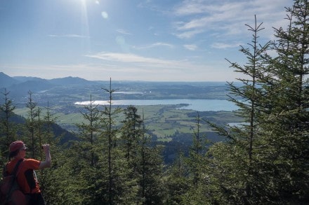
[[[66,77],[46,80],[37,77],[8,76],[0,72],[0,96],[10,92],[9,97],[16,104],[25,104],[28,92],[36,94],[37,101],[57,104],[60,101],[79,101],[89,94],[106,94],[102,88],[110,87],[109,80],[85,80],[84,78]],[[225,82],[159,82],[159,81],[112,81],[114,99],[226,99]],[[138,94],[129,94],[138,93]],[[0,104],[3,100],[0,97]]]

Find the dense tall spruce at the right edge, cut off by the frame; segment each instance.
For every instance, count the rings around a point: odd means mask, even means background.
[[[296,0],[287,8],[287,29],[275,29],[277,57],[268,71],[268,136],[272,199],[281,203],[309,201],[309,3]]]

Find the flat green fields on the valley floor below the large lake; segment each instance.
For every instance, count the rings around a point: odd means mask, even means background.
[[[75,125],[84,122],[80,111],[82,106],[70,106],[70,108],[62,108],[55,106],[51,108],[53,117],[61,127],[76,131]],[[192,134],[197,126],[197,111],[178,109],[177,105],[156,105],[156,106],[136,106],[138,114],[143,116],[145,127],[148,132],[157,136],[158,140],[170,141],[175,133]],[[16,108],[15,113],[27,118],[27,108]],[[44,118],[46,113],[45,108],[41,108],[41,118]],[[206,125],[205,120],[216,122],[216,124],[227,124],[230,122],[241,122],[240,118],[235,117],[235,114],[227,111],[220,112],[199,112],[202,119],[202,125],[199,132],[211,132],[211,127]],[[123,114],[117,117],[117,126],[121,126],[120,122],[123,120]]]

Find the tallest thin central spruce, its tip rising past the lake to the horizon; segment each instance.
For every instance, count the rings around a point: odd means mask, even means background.
[[[100,119],[100,140],[103,142],[103,168],[107,168],[105,186],[107,190],[102,190],[105,204],[131,204],[136,195],[136,189],[131,188],[132,181],[129,178],[130,169],[125,163],[124,152],[119,148],[119,129],[116,127],[117,117],[121,108],[112,107],[112,94],[116,91],[110,87],[103,88],[107,92],[109,100],[104,106]]]

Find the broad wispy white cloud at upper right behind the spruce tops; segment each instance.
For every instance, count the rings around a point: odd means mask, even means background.
[[[173,14],[180,19],[174,24],[178,38],[192,38],[196,34],[213,31],[224,31],[226,35],[245,32],[244,24],[253,22],[257,15],[258,22],[267,22],[265,27],[271,29],[278,19],[285,17],[282,1],[209,1],[185,0],[173,9]],[[280,5],[280,6],[278,6]],[[272,29],[271,29],[272,31]]]

